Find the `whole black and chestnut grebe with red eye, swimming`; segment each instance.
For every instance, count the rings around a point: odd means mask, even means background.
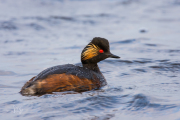
[[[110,52],[109,41],[95,37],[81,53],[82,66],[73,64],[47,68],[27,81],[21,88],[22,95],[43,95],[53,92],[84,92],[107,85],[98,62],[106,58],[120,58]]]

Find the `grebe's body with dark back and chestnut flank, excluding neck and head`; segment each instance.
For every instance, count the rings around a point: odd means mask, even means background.
[[[50,67],[33,77],[22,88],[22,94],[44,94],[62,91],[89,91],[106,85],[100,71],[72,64]],[[26,88],[26,89],[25,89]],[[27,89],[28,88],[28,89]]]

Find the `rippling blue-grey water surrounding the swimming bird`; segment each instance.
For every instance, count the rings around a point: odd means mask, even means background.
[[[179,120],[179,0],[0,0],[0,118]],[[99,63],[108,86],[25,97],[45,68],[79,64],[93,37],[121,57]]]

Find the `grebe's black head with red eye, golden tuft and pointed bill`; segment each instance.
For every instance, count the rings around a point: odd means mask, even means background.
[[[83,49],[81,53],[81,62],[83,64],[94,64],[109,57],[120,58],[110,52],[108,40],[105,38],[95,37]]]

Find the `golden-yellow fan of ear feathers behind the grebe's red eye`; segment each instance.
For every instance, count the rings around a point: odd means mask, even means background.
[[[82,60],[91,59],[98,55],[100,48],[94,44],[89,44],[86,50],[82,53]]]

